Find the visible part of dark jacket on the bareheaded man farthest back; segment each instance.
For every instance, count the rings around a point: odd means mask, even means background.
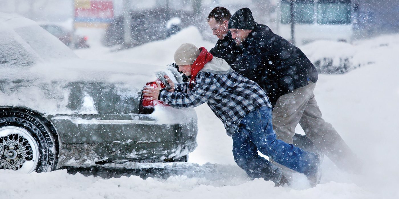
[[[209,53],[215,57],[226,60],[226,62],[231,65],[237,60],[237,55],[241,54],[241,48],[235,44],[234,39],[231,37],[231,32],[229,31],[225,38],[219,39]]]

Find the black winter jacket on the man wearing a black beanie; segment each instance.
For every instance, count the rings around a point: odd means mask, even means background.
[[[318,79],[316,68],[304,53],[267,25],[257,24],[242,43],[243,52],[231,67],[257,82],[273,107],[280,96]]]

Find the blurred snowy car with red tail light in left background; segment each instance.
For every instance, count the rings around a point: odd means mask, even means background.
[[[47,30],[47,32],[57,37],[62,43],[72,49],[90,47],[87,44],[87,39],[89,39],[87,36],[74,35],[72,31],[55,24],[40,24],[40,27]]]

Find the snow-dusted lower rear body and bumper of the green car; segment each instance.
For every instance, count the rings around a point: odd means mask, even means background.
[[[186,156],[197,146],[196,113],[194,109],[174,111],[187,117],[178,122],[173,115],[49,116],[61,141],[58,167],[102,160],[162,162]]]

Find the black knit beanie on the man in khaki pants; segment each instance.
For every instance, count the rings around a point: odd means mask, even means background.
[[[249,8],[241,8],[231,16],[229,21],[229,29],[247,29],[253,30],[257,23],[253,20],[252,12]]]

